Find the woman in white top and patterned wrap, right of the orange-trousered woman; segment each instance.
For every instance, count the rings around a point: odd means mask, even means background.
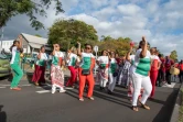
[[[97,65],[99,66],[99,78],[100,80],[100,90],[104,90],[106,88],[106,85],[108,82],[108,76],[109,76],[109,57],[108,57],[108,52],[103,51],[101,52],[103,56],[99,56],[97,59]]]

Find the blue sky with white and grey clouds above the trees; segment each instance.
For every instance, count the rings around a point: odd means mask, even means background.
[[[55,15],[51,7],[47,18],[37,16],[45,30],[35,31],[29,18],[17,15],[4,27],[4,40],[12,40],[20,33],[40,34],[47,37],[47,29],[56,19],[76,19],[94,25],[99,38],[130,37],[139,42],[146,36],[151,46],[164,55],[177,51],[183,59],[183,0],[61,0],[64,13]]]

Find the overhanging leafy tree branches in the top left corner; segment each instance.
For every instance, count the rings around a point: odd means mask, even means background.
[[[45,9],[49,9],[53,2],[55,3],[56,14],[64,12],[61,0],[0,0],[0,29],[18,14],[26,14],[32,27],[42,29],[44,25],[37,21],[35,14],[46,16]]]

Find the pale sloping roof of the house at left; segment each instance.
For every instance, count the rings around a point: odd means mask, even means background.
[[[47,44],[47,38],[44,37],[37,37],[25,33],[22,33],[22,36],[28,41],[28,43],[35,43],[41,45]]]

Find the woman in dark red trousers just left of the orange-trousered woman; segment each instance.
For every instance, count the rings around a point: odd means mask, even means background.
[[[76,70],[76,60],[77,60],[77,52],[72,48],[68,51],[67,55],[67,64],[68,64],[68,69],[71,71],[71,78],[68,79],[66,87],[74,87],[74,84],[76,81],[77,77],[77,70]]]

